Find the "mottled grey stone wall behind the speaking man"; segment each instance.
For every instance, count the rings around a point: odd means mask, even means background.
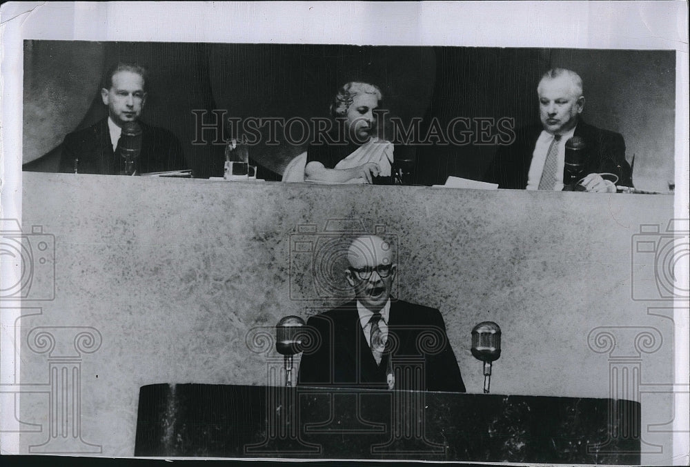
[[[673,322],[633,301],[631,281],[649,286],[653,277],[643,284],[646,266],[631,261],[633,235],[641,224],[663,230],[672,201],[24,172],[23,230],[40,224],[55,235],[56,292],[34,302],[41,315],[19,321],[21,379],[48,380],[46,355],[26,348],[30,330],[96,328],[102,344],[81,361],[82,437],[103,454],[132,455],[140,386],[266,384],[266,355],[248,350],[248,330],[344,299],[339,250],[312,261],[295,242],[312,241],[315,251],[333,237],[342,245],[341,234],[324,229],[342,226],[329,219],[348,219],[396,241],[395,292],[441,310],[469,392],[482,391],[469,344],[485,320],[503,331],[493,393],[608,397],[613,357],[595,352],[588,337],[611,326],[657,330],[652,353],[624,337],[615,337],[615,350],[638,352],[643,383],[671,381]],[[313,264],[335,282],[317,284]],[[47,423],[47,397],[22,400],[23,421]],[[672,419],[669,400],[642,397],[643,433]],[[644,436],[668,442],[663,433]],[[44,437],[29,433],[23,446]]]

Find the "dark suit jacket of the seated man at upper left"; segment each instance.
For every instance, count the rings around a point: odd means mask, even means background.
[[[186,168],[182,146],[171,132],[142,121],[139,123],[142,131],[139,173]],[[73,173],[77,158],[77,172],[80,174],[117,175],[124,169],[124,159],[117,157],[112,150],[107,118],[70,133],[62,146],[60,172]]]

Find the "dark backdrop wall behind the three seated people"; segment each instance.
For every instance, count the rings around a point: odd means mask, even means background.
[[[584,81],[584,119],[625,137],[628,160],[635,155],[635,185],[665,192],[673,180],[673,51],[155,42],[25,41],[23,160],[33,161],[26,170],[57,170],[64,135],[106,116],[98,83],[117,61],[149,68],[142,119],[177,135],[197,177],[221,175],[223,147],[209,132],[207,144],[192,143],[192,110],[222,109],[243,119],[327,117],[338,86],[359,79],[382,88],[391,115],[404,122],[424,117],[422,130],[433,117],[442,124],[512,117],[520,127],[538,122],[540,75],[564,66]],[[279,177],[302,150],[257,146],[252,156]],[[494,151],[479,144],[417,148],[417,181],[481,179]]]

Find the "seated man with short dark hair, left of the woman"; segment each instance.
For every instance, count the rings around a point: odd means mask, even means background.
[[[101,99],[108,106],[108,118],[65,137],[60,172],[139,175],[186,168],[177,138],[168,130],[139,120],[146,103],[144,68],[128,63],[110,68],[103,77]],[[129,166],[119,148],[122,128],[127,125],[141,135],[135,142],[137,149],[141,145],[139,155]]]

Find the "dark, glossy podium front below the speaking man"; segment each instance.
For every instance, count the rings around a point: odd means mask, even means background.
[[[640,404],[154,384],[139,393],[135,455],[639,464]]]

